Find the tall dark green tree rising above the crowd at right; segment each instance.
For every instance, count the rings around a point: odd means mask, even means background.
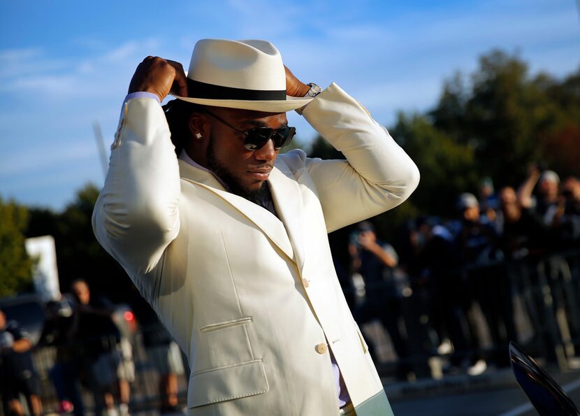
[[[469,82],[461,73],[444,84],[433,125],[470,146],[480,177],[517,185],[534,162],[577,173],[580,72],[563,82],[545,73],[530,76],[516,54],[494,50],[479,59]]]

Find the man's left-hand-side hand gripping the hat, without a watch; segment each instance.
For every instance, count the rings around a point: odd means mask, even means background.
[[[146,57],[143,59],[129,84],[131,92],[153,92],[159,100],[169,94],[187,96],[187,78],[183,66],[179,62],[162,59],[160,57]]]

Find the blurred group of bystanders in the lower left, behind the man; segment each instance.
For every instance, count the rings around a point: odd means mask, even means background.
[[[48,302],[43,314],[45,324],[38,345],[55,349],[55,358],[48,363],[48,377],[56,392],[58,413],[85,415],[88,393],[90,413],[129,415],[138,315],[140,341],[159,378],[159,412],[182,414],[177,400],[177,376],[184,374],[182,355],[145,301],[133,309],[115,305],[106,296],[92,294],[88,283],[78,279],[73,282],[71,293]],[[22,315],[21,320],[29,318]],[[17,320],[6,320],[0,310],[0,393],[4,415],[43,414],[41,377],[31,354],[34,338]]]

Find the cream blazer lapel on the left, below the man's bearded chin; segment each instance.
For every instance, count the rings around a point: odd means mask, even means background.
[[[217,196],[231,204],[231,206],[239,210],[240,213],[245,215],[245,217],[250,221],[254,222],[254,224],[256,224],[256,226],[259,227],[266,236],[268,236],[270,241],[284,252],[284,254],[286,254],[291,260],[295,260],[287,230],[284,228],[282,221],[280,221],[275,215],[266,210],[266,208],[262,208],[242,196],[227,192],[219,180],[217,180],[209,171],[203,171],[202,169],[191,166],[182,160],[179,161],[179,164],[180,175],[184,180],[193,182],[196,185],[208,189],[208,191],[217,194]],[[273,171],[276,170],[276,168],[273,169]],[[277,206],[276,209],[280,214],[280,210],[278,210]]]

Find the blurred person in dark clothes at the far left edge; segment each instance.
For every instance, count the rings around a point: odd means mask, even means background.
[[[7,321],[0,310],[0,394],[8,416],[24,415],[21,393],[26,397],[32,415],[41,416],[43,413],[41,388],[31,347],[27,332],[16,321]]]

